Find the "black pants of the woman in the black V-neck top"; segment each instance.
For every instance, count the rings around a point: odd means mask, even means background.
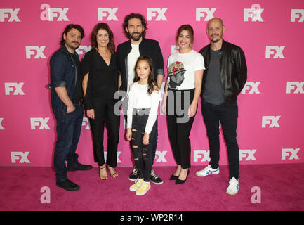
[[[93,135],[94,160],[99,166],[105,164],[103,135],[107,128],[107,165],[117,166],[117,145],[119,141],[120,117],[114,114],[115,99],[93,100],[95,119],[90,119]]]

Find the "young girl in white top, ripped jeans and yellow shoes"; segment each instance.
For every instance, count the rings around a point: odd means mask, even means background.
[[[140,56],[135,66],[135,77],[128,92],[126,139],[131,141],[134,162],[139,178],[130,186],[136,195],[145,195],[151,188],[152,140],[161,97],[154,80],[153,63],[149,56]]]

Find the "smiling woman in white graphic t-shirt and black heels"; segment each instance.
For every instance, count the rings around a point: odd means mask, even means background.
[[[176,35],[179,49],[168,58],[168,78],[161,104],[161,111],[167,117],[173,156],[178,165],[170,178],[176,180],[176,184],[185,183],[190,172],[189,136],[205,69],[203,56],[192,50],[193,41],[193,28],[190,25],[180,26]]]

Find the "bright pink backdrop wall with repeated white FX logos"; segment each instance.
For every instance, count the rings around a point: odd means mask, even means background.
[[[105,8],[110,8],[110,13]],[[90,46],[91,30],[101,21],[110,25],[116,45],[126,41],[122,23],[131,12],[147,18],[146,37],[159,41],[165,68],[180,25],[192,25],[193,49],[199,51],[209,44],[208,20],[222,18],[224,39],[242,47],[248,66],[247,83],[238,99],[241,165],[304,162],[303,0],[12,0],[0,3],[0,166],[49,167],[53,163],[55,118],[45,85],[50,82],[49,59],[60,47],[65,26],[78,23],[84,27],[86,36],[79,48],[82,58]],[[123,128],[121,118],[118,166],[131,166],[131,150]],[[192,165],[207,165],[209,146],[200,105],[190,139]],[[220,165],[227,165],[222,134],[220,146]],[[86,117],[77,153],[80,162],[96,166]],[[161,113],[154,165],[176,165]]]

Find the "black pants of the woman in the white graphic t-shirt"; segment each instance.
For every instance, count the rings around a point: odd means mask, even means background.
[[[190,168],[191,166],[191,143],[189,136],[194,116],[188,118],[188,110],[193,97],[194,89],[183,91],[168,89],[168,97],[166,99],[169,141],[174,159],[183,169]],[[182,111],[183,113],[181,113]]]

